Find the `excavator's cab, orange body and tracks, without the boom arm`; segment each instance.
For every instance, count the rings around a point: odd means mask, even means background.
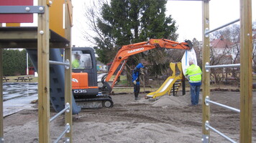
[[[72,48],[72,92],[82,108],[112,107],[111,97],[99,92],[92,48]]]

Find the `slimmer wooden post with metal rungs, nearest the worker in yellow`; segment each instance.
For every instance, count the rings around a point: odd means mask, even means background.
[[[207,37],[205,34],[206,29],[209,29],[209,1],[203,2],[203,101],[202,101],[202,112],[203,112],[203,127],[202,127],[202,139],[203,142],[210,142],[209,136],[210,132],[205,129],[204,124],[206,121],[210,121],[210,107],[206,106],[205,99],[206,96],[210,97],[210,72],[206,72],[205,64],[206,62],[210,62],[210,40],[209,36]]]

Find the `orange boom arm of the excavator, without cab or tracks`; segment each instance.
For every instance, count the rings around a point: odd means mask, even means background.
[[[124,69],[124,65],[127,63],[127,59],[129,56],[132,56],[134,54],[141,53],[143,51],[148,51],[150,49],[191,49],[192,43],[191,41],[185,41],[178,43],[177,41],[171,41],[168,39],[150,39],[150,41],[143,41],[136,44],[129,44],[122,46],[121,49],[117,52],[113,63],[111,64],[111,67],[109,69],[109,73],[106,74],[105,77],[101,79],[101,82],[103,84],[103,87],[101,87],[101,91],[104,93],[110,93],[111,89],[113,89],[114,84],[116,83],[116,80],[122,73],[122,70]],[[119,67],[119,65],[122,63],[121,68],[116,74],[116,77],[114,78],[113,83],[111,84],[111,87],[109,86],[109,79],[113,76],[116,69]]]

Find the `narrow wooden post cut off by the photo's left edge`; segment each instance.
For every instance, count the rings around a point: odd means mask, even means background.
[[[1,26],[1,24],[0,24]],[[0,142],[4,142],[4,106],[3,106],[3,61],[2,49],[0,48]]]

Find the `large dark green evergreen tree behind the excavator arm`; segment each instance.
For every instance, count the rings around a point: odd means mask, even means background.
[[[111,0],[109,4],[103,4],[102,19],[98,17],[96,21],[99,36],[94,37],[97,45],[94,49],[99,61],[108,63],[123,45],[148,39],[165,38],[175,41],[178,36],[175,34],[177,27],[171,16],[165,16],[166,3],[166,0]],[[144,58],[151,64],[161,66],[167,61],[164,56],[165,51],[151,50],[132,56],[128,64]]]

